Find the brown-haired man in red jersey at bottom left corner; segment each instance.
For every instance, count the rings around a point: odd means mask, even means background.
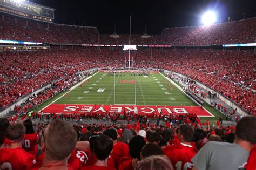
[[[36,163],[31,153],[22,149],[26,128],[22,123],[12,124],[6,130],[10,146],[0,149],[0,169],[30,169]]]

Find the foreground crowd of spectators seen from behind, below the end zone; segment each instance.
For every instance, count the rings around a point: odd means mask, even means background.
[[[256,117],[237,126],[0,119],[1,169],[255,169]],[[63,149],[65,148],[65,149]],[[227,164],[228,162],[228,164]]]

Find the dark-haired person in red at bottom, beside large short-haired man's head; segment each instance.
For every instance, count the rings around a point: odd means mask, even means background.
[[[107,166],[107,159],[112,152],[113,141],[106,135],[102,135],[95,139],[93,145],[93,150],[95,151],[98,160],[94,165],[84,167],[82,170],[112,170],[113,168]]]

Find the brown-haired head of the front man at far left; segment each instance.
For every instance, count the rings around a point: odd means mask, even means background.
[[[22,123],[12,124],[10,125],[6,131],[6,138],[11,140],[12,142],[18,143],[21,142],[25,137],[26,128]]]

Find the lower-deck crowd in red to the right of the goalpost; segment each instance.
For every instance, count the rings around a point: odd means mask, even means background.
[[[145,52],[145,53],[144,53]],[[139,50],[135,67],[162,68],[197,80],[255,114],[255,54],[251,50]],[[251,84],[249,84],[251,82]],[[247,89],[249,87],[249,89]]]

